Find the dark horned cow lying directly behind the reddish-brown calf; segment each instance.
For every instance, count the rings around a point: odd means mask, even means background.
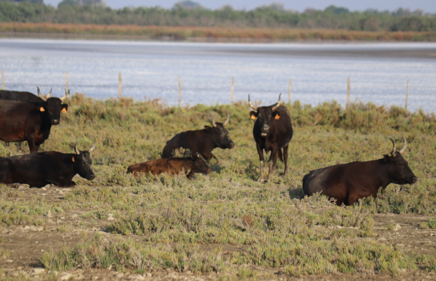
[[[212,154],[214,148],[233,148],[235,144],[229,137],[229,131],[224,128],[230,120],[229,112],[226,112],[227,120],[224,123],[215,123],[214,117],[210,112],[207,113],[212,119],[212,127],[205,126],[203,130],[178,133],[170,141],[167,141],[167,145],[165,145],[162,152],[162,158],[172,157],[174,150],[185,148],[191,150],[191,152],[198,152],[203,158],[210,160],[212,157],[217,159],[217,157]]]

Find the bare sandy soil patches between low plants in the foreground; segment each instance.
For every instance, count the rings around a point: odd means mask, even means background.
[[[70,188],[61,189],[56,187],[38,189],[30,188],[21,190],[23,197],[20,200],[28,200],[33,195],[44,197],[48,203],[63,200]],[[45,279],[54,277],[55,280],[215,280],[217,277],[228,277],[230,273],[211,273],[210,275],[193,275],[189,271],[179,273],[174,270],[154,270],[144,275],[129,275],[118,273],[114,270],[82,270],[74,269],[63,273],[49,273],[39,261],[44,252],[53,249],[58,251],[63,247],[73,247],[82,240],[83,235],[92,237],[95,233],[108,240],[122,237],[105,232],[105,225],[109,220],[92,220],[82,218],[81,215],[89,209],[74,209],[65,211],[63,214],[49,214],[41,216],[48,221],[44,226],[2,226],[0,239],[1,249],[10,251],[8,259],[0,259],[1,277],[27,277],[30,280]],[[319,209],[317,211],[323,211]],[[404,247],[405,251],[413,250],[418,254],[436,254],[436,230],[419,228],[419,224],[428,221],[430,216],[418,215],[396,215],[396,214],[375,214],[374,230],[376,235],[372,238],[379,242],[394,244]],[[394,230],[388,230],[387,226],[392,223]],[[56,227],[72,225],[73,230],[68,233],[56,231]],[[338,226],[340,228],[340,226]],[[143,237],[135,237],[139,241]],[[204,245],[202,251],[212,250],[215,247],[223,247],[223,254],[231,254],[234,251],[244,251],[243,246],[233,245]],[[235,270],[243,266],[235,266]],[[429,273],[420,269],[414,272],[404,272],[399,277],[389,275],[367,275],[367,274],[338,274],[308,277],[289,277],[283,273],[283,268],[263,268],[261,266],[249,266],[250,270],[256,270],[257,279],[265,280],[436,280],[436,273]],[[3,278],[0,278],[3,279]]]

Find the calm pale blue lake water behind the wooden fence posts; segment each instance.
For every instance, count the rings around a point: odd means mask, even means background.
[[[6,89],[62,96],[65,72],[72,93],[93,98],[162,98],[182,105],[235,100],[275,103],[278,94],[316,105],[351,100],[404,106],[409,79],[410,110],[436,111],[436,44],[207,44],[146,41],[0,39]]]

